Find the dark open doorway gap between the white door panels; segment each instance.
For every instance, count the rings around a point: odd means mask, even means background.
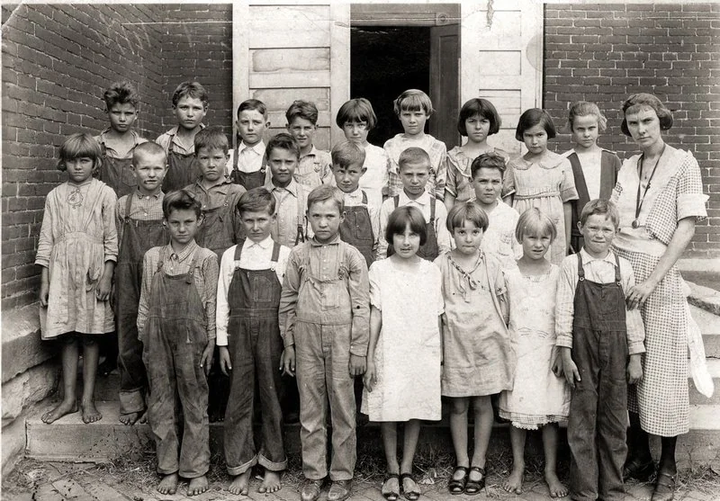
[[[402,132],[392,101],[407,89],[430,95],[430,28],[353,26],[350,42],[350,95],[373,103],[378,124],[368,140],[382,147]]]

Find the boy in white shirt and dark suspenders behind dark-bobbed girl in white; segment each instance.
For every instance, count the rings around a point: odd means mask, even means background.
[[[394,253],[392,245],[385,240],[385,228],[392,211],[398,207],[412,205],[425,217],[428,238],[420,246],[418,255],[434,261],[438,255],[450,250],[450,232],[446,227],[447,210],[442,201],[438,201],[425,189],[430,176],[430,157],[418,147],[411,147],[401,153],[398,160],[402,192],[383,201],[380,209],[380,235],[378,236],[377,257],[383,259]]]

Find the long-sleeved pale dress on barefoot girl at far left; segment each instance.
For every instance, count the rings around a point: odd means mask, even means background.
[[[35,264],[48,268],[48,308],[40,308],[42,339],[68,332],[104,334],[115,328],[110,301],[95,291],[105,261],[117,261],[117,197],[91,178],[49,192]]]

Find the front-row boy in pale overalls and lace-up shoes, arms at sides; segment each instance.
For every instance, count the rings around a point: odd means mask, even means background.
[[[350,496],[356,464],[353,377],[365,372],[370,284],[360,251],[338,234],[343,195],[322,185],[308,195],[311,240],[293,248],[280,299],[283,367],[300,390],[302,501],[320,496],[328,475],[328,402],[332,421],[329,501]],[[311,286],[303,286],[310,282]]]

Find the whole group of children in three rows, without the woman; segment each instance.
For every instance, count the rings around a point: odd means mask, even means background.
[[[547,149],[548,113],[527,110],[516,133],[527,153],[509,159],[487,142],[500,116],[480,98],[464,104],[467,141],[450,152],[424,132],[427,94],[395,101],[404,133],[384,148],[367,141],[371,103],[353,99],[337,117],[347,140],[328,153],[313,144],[312,103],[294,102],[289,133],[267,143],[266,105],[240,104],[230,151],[219,128],[202,124],[208,99],[196,82],[177,87],[178,125],[155,142],[131,128],[139,99],[129,84],[104,97],[110,128],[62,145],[68,180],[49,193],[40,231],[42,335],[62,342],[64,387],[43,421],[77,410],[80,345],[82,417],[102,417],[95,340],[116,329],[121,422],[147,416],[162,494],[181,477],[191,496],[207,489],[217,353],[230,378],[224,450],[234,494],[247,494],[257,464],[260,492],[281,487],[282,371],[298,382],[303,501],[328,478],[331,501],[350,496],[356,380],[362,412],[381,423],[391,501],[420,496],[420,424],[441,418],[443,397],[457,461],[449,491],[482,490],[496,394],[512,424],[504,488],[522,492],[526,431],[542,428],[550,493],[568,494],[555,463],[557,424],[569,420],[572,496],[621,496],[623,396],[642,377],[644,329],[626,309],[632,269],[610,248],[619,160],[597,145],[606,121],[596,105],[572,105],[576,147],[563,156]]]

